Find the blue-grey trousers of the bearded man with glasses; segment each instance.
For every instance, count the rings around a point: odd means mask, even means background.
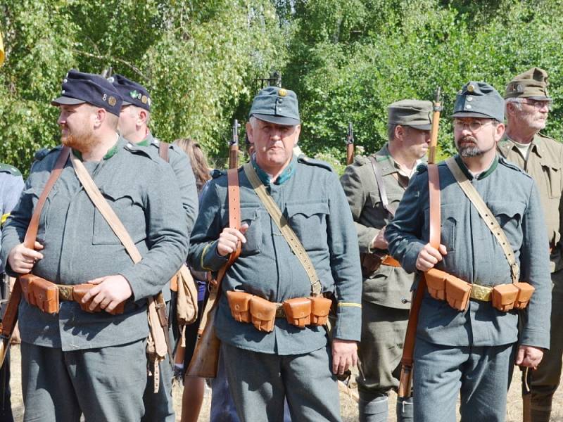
[[[450,347],[417,338],[414,404],[417,422],[455,422],[461,392],[462,422],[504,422],[515,344]]]

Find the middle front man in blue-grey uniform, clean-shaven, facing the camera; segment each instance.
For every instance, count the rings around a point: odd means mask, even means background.
[[[253,171],[303,244],[322,292],[336,299],[332,342],[322,326],[300,328],[278,317],[273,331],[266,332],[233,318],[226,298],[232,290],[275,303],[308,298],[312,290],[245,171],[239,170],[241,230],[227,227],[227,177],[221,175],[202,198],[189,262],[198,270],[217,271],[242,243],[241,255],[222,281],[215,319],[241,421],[281,421],[284,397],[294,421],[339,421],[336,373],[355,365],[361,325],[358,237],[350,207],[327,164],[293,155],[301,129],[293,91],[262,89],[249,116]]]

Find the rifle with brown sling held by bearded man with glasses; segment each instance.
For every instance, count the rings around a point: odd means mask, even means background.
[[[440,179],[438,177],[438,167],[436,166],[436,146],[438,145],[438,127],[440,124],[440,112],[442,110],[440,102],[440,88],[436,90],[436,100],[433,107],[432,129],[430,132],[430,148],[428,150],[428,185],[430,200],[430,244],[438,249],[440,246]],[[402,398],[410,397],[412,385],[412,364],[415,352],[415,337],[417,335],[418,314],[424,291],[426,290],[426,279],[424,274],[420,276],[418,287],[412,306],[410,307],[409,322],[405,335],[405,345],[403,347],[403,357],[400,359],[400,380],[398,396]]]

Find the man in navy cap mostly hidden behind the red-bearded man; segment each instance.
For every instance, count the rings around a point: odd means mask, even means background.
[[[160,141],[155,139],[150,129],[148,129],[148,123],[151,120],[152,103],[148,91],[141,84],[122,75],[115,74],[108,78],[108,80],[123,98],[118,122],[118,131],[121,136],[138,147],[150,148],[153,153],[158,155]],[[186,214],[186,228],[189,234],[194,227],[198,211],[198,193],[194,172],[191,170],[191,163],[187,155],[174,144],[170,144],[168,148],[168,162],[176,175],[180,199]],[[163,288],[163,298],[169,309],[168,325],[172,328],[175,319],[175,306],[170,304],[172,298],[170,283],[167,283]],[[160,374],[158,393],[153,392],[153,373],[149,372],[147,377],[144,392],[145,415],[142,421],[175,421],[174,403],[172,401],[173,375],[172,367],[168,361],[160,362]]]

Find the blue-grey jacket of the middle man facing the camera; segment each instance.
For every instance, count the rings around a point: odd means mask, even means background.
[[[326,166],[326,167],[325,167]],[[270,195],[308,252],[323,292],[334,292],[337,321],[334,337],[360,340],[361,280],[358,237],[339,179],[327,165],[293,157],[279,184],[267,184]],[[239,170],[241,221],[249,225],[241,255],[227,271],[222,290],[240,289],[271,302],[308,297],[310,281],[270,215]],[[227,257],[217,254],[217,239],[228,225],[227,177],[209,182],[191,235],[189,263],[196,270],[217,271]],[[276,319],[274,331],[263,333],[235,321],[221,296],[215,328],[235,347],[270,354],[301,354],[327,344],[324,328],[298,328]]]

